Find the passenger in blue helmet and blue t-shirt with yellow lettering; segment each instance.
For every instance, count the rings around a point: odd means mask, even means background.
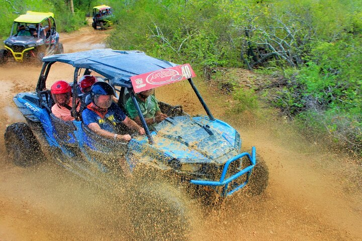
[[[130,135],[117,134],[117,124],[123,122],[128,128],[137,130],[141,135],[145,130],[128,118],[121,108],[113,103],[115,94],[111,85],[106,82],[96,82],[92,85],[92,103],[82,112],[84,124],[96,134],[114,140],[130,141]]]

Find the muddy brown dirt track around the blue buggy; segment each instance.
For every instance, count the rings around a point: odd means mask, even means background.
[[[87,38],[84,38],[84,36]],[[62,34],[65,52],[103,48],[107,31],[83,28]],[[39,66],[0,66],[0,133],[23,121],[12,102],[17,92],[35,89]],[[52,73],[72,79],[72,69]],[[256,146],[269,167],[269,186],[258,197],[236,195],[220,212],[194,223],[190,240],[362,240],[361,167],[321,143],[311,143],[286,123],[245,117],[199,84],[217,118],[234,126],[243,147]],[[158,97],[203,113],[186,84],[167,87]],[[170,97],[172,96],[172,97]],[[27,169],[13,166],[0,139],[0,240],[129,240],[122,203],[115,203],[52,164]],[[150,230],[151,232],[152,230]]]

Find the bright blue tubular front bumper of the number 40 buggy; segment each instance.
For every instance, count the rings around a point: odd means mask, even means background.
[[[225,180],[225,176],[226,176],[226,173],[228,171],[230,163],[232,163],[234,161],[237,161],[237,160],[239,160],[240,158],[242,158],[244,156],[247,156],[247,158],[251,162],[251,165],[244,168],[243,170],[235,173],[234,175],[232,175],[231,177],[229,177],[228,179]],[[225,163],[223,172],[222,172],[221,177],[220,177],[220,181],[191,180],[190,182],[193,183],[193,184],[196,184],[196,185],[203,185],[203,186],[213,186],[213,187],[223,186],[223,192],[221,193],[221,196],[227,197],[227,196],[233,194],[234,192],[236,192],[237,190],[243,188],[249,182],[249,177],[251,175],[252,169],[254,168],[255,164],[256,164],[256,152],[255,152],[255,147],[252,147],[251,156],[250,156],[249,153],[243,152],[243,153],[229,159]],[[235,187],[231,191],[227,191],[229,183],[236,180],[238,177],[240,177],[240,176],[242,176],[244,174],[247,174],[245,182],[241,183],[240,185],[238,185],[237,187]]]

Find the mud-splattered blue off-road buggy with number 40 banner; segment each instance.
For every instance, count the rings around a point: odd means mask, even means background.
[[[134,196],[142,200],[140,205],[137,206],[136,201],[130,202],[130,210],[134,213],[139,213],[145,200],[149,201],[152,195],[155,201],[149,204],[154,209],[162,203],[163,206],[155,211],[162,212],[169,210],[164,208],[169,202],[173,203],[170,205],[174,209],[180,209],[175,202],[176,191],[204,203],[214,203],[244,187],[249,194],[261,194],[266,188],[268,170],[265,163],[256,155],[255,147],[251,148],[251,153],[243,152],[239,133],[212,115],[191,78],[195,75],[190,65],[176,65],[140,51],[112,49],[46,56],[43,62],[35,91],[14,97],[27,121],[10,125],[5,133],[7,152],[16,165],[29,166],[47,159],[86,180],[99,182],[104,176],[110,180],[120,177],[117,180],[123,180],[126,186],[130,180],[144,183],[140,188],[142,191]],[[51,112],[54,101],[50,93],[50,84],[55,80],[47,83],[51,69],[60,68],[54,63],[74,67],[73,106],[76,106],[76,99],[84,99],[84,105],[90,103],[88,97],[82,98],[77,82],[82,75],[92,73],[99,81],[107,81],[114,87],[122,109],[132,98],[146,135],[133,135],[130,142],[115,142],[89,130],[75,108],[71,110],[75,121],[64,122],[55,117]],[[190,83],[190,90],[197,95],[206,115],[191,116],[182,106],[159,102],[161,111],[168,117],[148,127],[135,93],[147,86],[154,88],[183,80]],[[130,133],[125,126],[119,130],[120,134]],[[126,161],[131,174],[121,173],[120,160]],[[144,180],[143,176],[148,177],[146,182],[134,181],[137,178]],[[169,179],[163,178],[160,185],[154,182],[159,176]],[[138,233],[147,232],[140,226],[137,228]]]

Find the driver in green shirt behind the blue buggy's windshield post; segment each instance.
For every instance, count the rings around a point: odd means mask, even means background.
[[[153,89],[149,89],[135,94],[147,125],[160,123],[168,117],[167,114],[161,112],[157,99],[152,93]],[[141,119],[138,116],[138,111],[133,104],[132,98],[129,98],[126,102],[126,111],[131,119],[134,119],[138,125],[141,125]]]

